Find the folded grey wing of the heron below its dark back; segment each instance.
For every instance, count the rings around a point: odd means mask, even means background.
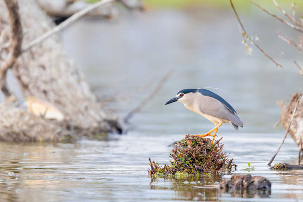
[[[243,126],[243,123],[241,119],[238,117],[237,113],[229,110],[218,99],[210,96],[205,96],[200,93],[197,93],[197,95],[200,96],[198,99],[200,112],[211,115],[213,117],[218,117],[220,119],[228,120],[235,126],[240,126],[240,127]]]

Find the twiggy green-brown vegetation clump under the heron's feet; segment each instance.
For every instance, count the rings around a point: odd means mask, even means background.
[[[236,165],[232,164],[233,159],[227,159],[223,144],[219,142],[221,139],[212,144],[210,138],[186,135],[171,151],[171,165],[161,167],[149,158],[149,175],[161,177],[176,174],[217,174],[230,170]]]

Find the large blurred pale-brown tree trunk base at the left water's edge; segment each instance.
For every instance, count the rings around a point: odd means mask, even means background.
[[[121,132],[117,119],[103,111],[81,72],[64,52],[58,35],[52,35],[16,57],[20,54],[21,42],[22,46],[26,45],[55,26],[36,1],[18,3],[19,11],[16,1],[0,1],[0,66],[4,67],[13,55],[10,67],[19,84],[20,92],[16,93],[21,94],[19,99],[35,96],[46,100],[54,104],[65,119],[63,122],[44,120],[20,108],[3,105],[0,107],[0,140],[58,141],[71,134],[79,137]],[[10,4],[15,4],[15,7]],[[19,17],[22,29],[18,28]],[[5,77],[6,73],[3,74]],[[5,90],[3,92],[6,93]],[[5,94],[7,98],[10,97],[8,92]]]

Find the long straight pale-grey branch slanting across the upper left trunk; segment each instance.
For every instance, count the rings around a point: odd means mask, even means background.
[[[105,6],[109,3],[114,2],[115,0],[103,0],[97,3],[94,3],[88,7],[86,7],[85,9],[75,13],[74,15],[72,15],[71,17],[69,17],[67,20],[65,20],[63,23],[57,25],[56,27],[54,27],[53,29],[47,31],[46,33],[42,34],[41,36],[39,36],[38,38],[32,40],[31,42],[29,42],[27,45],[25,45],[25,47],[22,49],[22,52],[27,51],[29,48],[31,48],[32,46],[41,43],[44,39],[48,38],[49,36],[52,36],[53,34],[61,31],[62,29],[66,28],[67,26],[69,26],[70,24],[72,24],[73,22],[75,22],[76,20],[78,20],[79,18],[81,18],[82,16],[84,16],[85,14],[87,14],[88,12],[100,7],[100,6]]]

